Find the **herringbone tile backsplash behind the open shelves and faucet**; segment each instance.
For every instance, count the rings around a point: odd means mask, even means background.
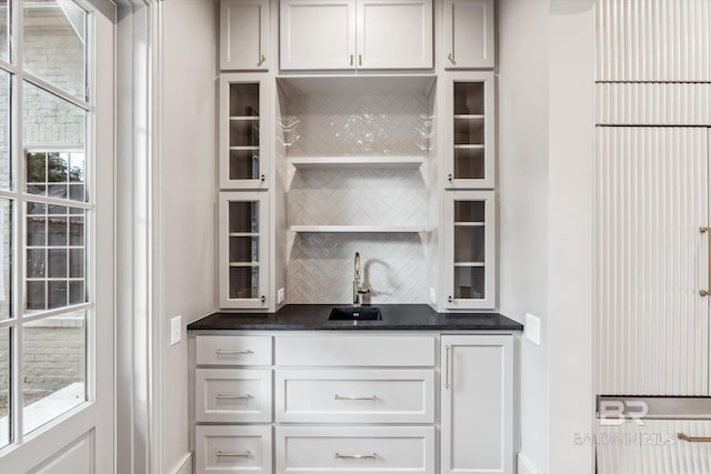
[[[421,155],[430,150],[424,95],[296,95],[279,129],[288,157]],[[427,224],[427,164],[412,169],[289,170],[288,224]],[[365,303],[425,303],[427,233],[289,233],[287,302],[350,304],[361,254]]]

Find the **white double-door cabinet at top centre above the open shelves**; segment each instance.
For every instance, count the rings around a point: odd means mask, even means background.
[[[432,1],[282,0],[280,64],[282,70],[429,69]]]

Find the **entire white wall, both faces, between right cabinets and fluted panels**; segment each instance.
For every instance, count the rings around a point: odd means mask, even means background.
[[[593,472],[594,9],[500,0],[500,307],[541,319],[520,345],[520,452],[540,473]]]

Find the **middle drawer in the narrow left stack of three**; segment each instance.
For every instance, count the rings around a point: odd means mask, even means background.
[[[271,371],[197,369],[196,421],[271,422]]]

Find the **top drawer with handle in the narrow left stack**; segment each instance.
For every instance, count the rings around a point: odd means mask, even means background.
[[[271,337],[256,335],[199,335],[198,365],[271,365]]]

